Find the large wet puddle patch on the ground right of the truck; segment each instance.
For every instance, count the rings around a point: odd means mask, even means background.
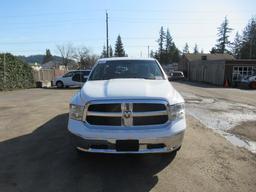
[[[188,114],[198,119],[206,127],[221,134],[232,144],[256,153],[256,142],[241,139],[226,132],[241,122],[255,120],[256,107],[192,95],[189,95],[188,98],[185,96],[185,100]]]

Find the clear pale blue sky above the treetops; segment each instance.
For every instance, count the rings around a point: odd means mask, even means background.
[[[88,47],[101,54],[106,44],[105,13],[109,14],[109,43],[120,34],[130,57],[147,57],[157,50],[160,27],[169,28],[176,46],[209,52],[217,27],[227,16],[235,33],[256,16],[255,0],[1,0],[0,52],[15,55],[59,55],[57,45]]]

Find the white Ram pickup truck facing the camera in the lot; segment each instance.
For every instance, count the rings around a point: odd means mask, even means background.
[[[99,59],[70,101],[78,151],[170,153],[186,129],[184,99],[155,59]]]

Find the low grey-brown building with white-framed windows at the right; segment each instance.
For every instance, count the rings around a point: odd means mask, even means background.
[[[191,81],[236,86],[242,78],[256,75],[256,60],[235,59],[228,54],[184,54],[179,70]]]

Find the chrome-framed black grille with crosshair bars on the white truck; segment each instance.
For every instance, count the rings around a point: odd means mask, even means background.
[[[161,125],[168,121],[164,101],[91,102],[86,106],[84,120],[98,126]]]

